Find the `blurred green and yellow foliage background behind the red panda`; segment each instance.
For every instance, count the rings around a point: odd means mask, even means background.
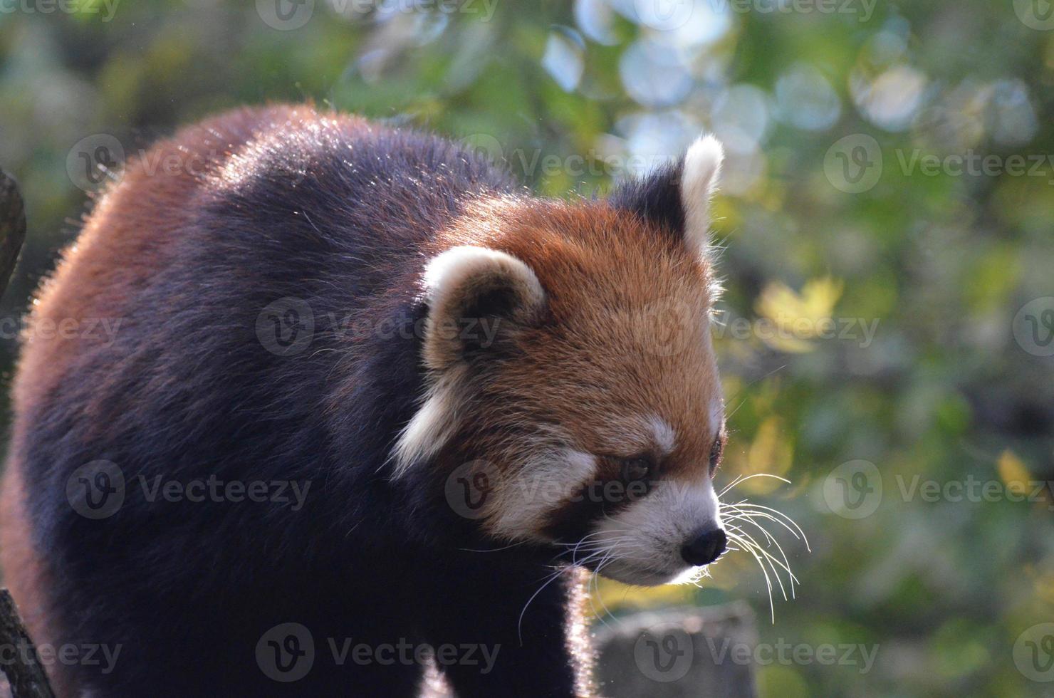
[[[0,12],[0,164],[30,219],[5,317],[77,231],[87,196],[67,162],[96,134],[131,156],[226,108],[311,99],[465,138],[564,196],[714,131],[728,156],[722,479],[789,479],[735,491],[793,516],[812,552],[768,526],[801,582],[772,624],[745,552],[702,588],[599,595],[616,616],[745,598],[764,642],[877,648],[865,673],[761,666],[765,696],[1049,695],[1014,647],[1054,620],[1051,489],[971,501],[945,487],[1054,480],[1054,356],[1018,312],[1054,295],[1042,0],[317,0],[287,2],[309,17],[285,23],[265,0],[44,4]],[[962,172],[974,156],[994,164]],[[1033,323],[1051,307],[1038,303]],[[818,329],[828,319],[835,336]],[[13,332],[0,348],[9,376]],[[832,498],[859,461],[882,493],[850,518]],[[943,493],[923,498],[916,476]]]

